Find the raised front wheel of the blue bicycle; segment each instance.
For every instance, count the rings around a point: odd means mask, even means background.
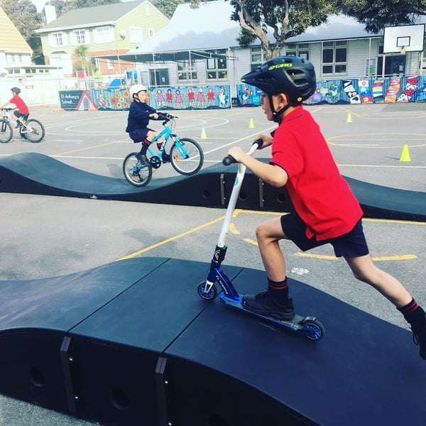
[[[181,175],[194,175],[204,161],[201,146],[193,139],[178,139],[170,149],[170,161],[173,168]]]

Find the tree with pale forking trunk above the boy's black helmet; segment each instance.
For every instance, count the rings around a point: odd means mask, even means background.
[[[327,22],[330,14],[338,12],[334,0],[231,0],[231,4],[235,9],[231,19],[241,26],[240,45],[245,47],[258,38],[268,59],[281,54],[285,40]],[[269,31],[275,43],[269,40]]]

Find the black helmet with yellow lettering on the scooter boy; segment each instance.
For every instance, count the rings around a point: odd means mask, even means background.
[[[278,56],[268,60],[261,67],[243,75],[241,82],[258,87],[270,97],[278,93],[288,95],[290,103],[280,111],[273,110],[274,116],[305,101],[317,89],[314,66],[308,60],[295,56]]]

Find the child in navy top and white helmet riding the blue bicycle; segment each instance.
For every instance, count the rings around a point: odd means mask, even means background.
[[[158,135],[158,131],[149,129],[148,124],[150,120],[161,119],[158,111],[150,107],[147,100],[147,88],[142,84],[134,84],[130,88],[130,97],[132,99],[129,116],[127,117],[126,132],[129,133],[133,142],[141,142],[142,148],[138,155],[138,159],[149,165],[149,160],[146,158],[146,151],[151,145],[151,141]],[[158,149],[163,145],[163,140],[159,139],[157,142]],[[168,160],[168,155],[163,153],[163,161]]]

